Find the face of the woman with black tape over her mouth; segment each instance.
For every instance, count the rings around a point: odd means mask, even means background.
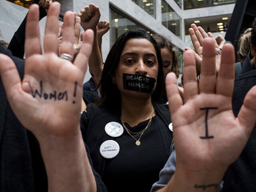
[[[121,95],[128,96],[150,96],[156,88],[156,82],[153,83],[153,91],[149,94],[143,91],[134,91],[124,89],[123,74],[133,74],[149,77],[151,80],[157,80],[158,60],[156,50],[152,43],[144,38],[132,38],[126,42],[121,53],[118,66],[112,78],[116,81]]]

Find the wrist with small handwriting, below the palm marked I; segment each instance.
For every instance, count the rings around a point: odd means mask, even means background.
[[[180,172],[175,174],[168,184],[157,192],[218,192],[226,169],[202,172]]]

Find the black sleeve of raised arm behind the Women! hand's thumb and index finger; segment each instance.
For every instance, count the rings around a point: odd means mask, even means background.
[[[39,0],[34,0],[33,3],[38,4]],[[40,16],[39,20],[46,16],[46,10],[40,7]],[[24,56],[24,44],[25,44],[25,28],[26,28],[26,19],[27,16],[24,18],[22,23],[20,24],[18,30],[14,33],[12,40],[8,46],[8,50],[12,52],[13,56],[23,59]]]

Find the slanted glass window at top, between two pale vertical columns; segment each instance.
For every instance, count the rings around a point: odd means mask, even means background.
[[[181,18],[170,5],[162,0],[162,24],[179,38],[181,37]]]

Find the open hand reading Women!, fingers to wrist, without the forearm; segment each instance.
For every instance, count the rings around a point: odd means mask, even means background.
[[[1,55],[0,72],[6,93],[20,122],[37,138],[45,135],[78,134],[82,82],[92,49],[93,32],[86,31],[82,48],[73,64],[67,59],[60,58],[60,4],[56,3],[48,11],[42,54],[37,11],[36,7],[32,6],[28,12],[26,63],[22,82],[12,60]],[[74,25],[73,13],[66,12],[60,54],[74,56]]]

